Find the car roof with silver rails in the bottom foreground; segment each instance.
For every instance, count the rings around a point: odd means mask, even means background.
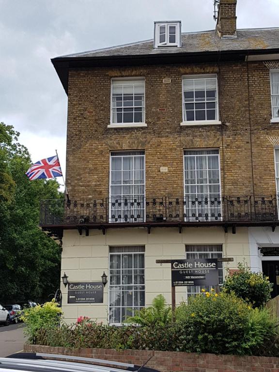
[[[62,361],[61,359],[67,359],[68,361]],[[86,364],[86,362],[90,364]],[[106,366],[102,366],[101,364],[105,364]],[[108,367],[107,365],[111,365],[112,367]],[[16,353],[8,357],[0,357],[0,372],[1,369],[3,372],[14,372],[15,370],[21,372],[136,372],[139,370],[141,372],[158,372],[152,368],[145,367],[145,364],[136,366],[134,364],[81,356],[41,353]]]

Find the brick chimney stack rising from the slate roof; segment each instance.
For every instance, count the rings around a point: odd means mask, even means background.
[[[236,37],[237,0],[219,0],[216,30],[221,38]]]

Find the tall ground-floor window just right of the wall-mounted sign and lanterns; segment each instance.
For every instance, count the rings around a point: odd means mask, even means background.
[[[145,306],[143,246],[109,248],[109,323],[121,324]]]

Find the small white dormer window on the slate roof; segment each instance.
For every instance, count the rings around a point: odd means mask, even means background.
[[[154,47],[181,47],[181,21],[155,21]]]

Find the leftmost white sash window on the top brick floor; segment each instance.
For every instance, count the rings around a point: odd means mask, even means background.
[[[111,80],[111,124],[144,123],[144,78]]]

